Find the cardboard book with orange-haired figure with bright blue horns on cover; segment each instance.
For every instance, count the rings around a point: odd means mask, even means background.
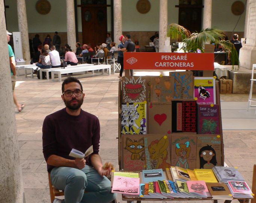
[[[171,135],[171,165],[196,168],[196,135]]]

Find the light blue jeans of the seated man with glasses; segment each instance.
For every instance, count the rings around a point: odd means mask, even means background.
[[[92,166],[86,165],[81,170],[55,167],[51,180],[55,188],[64,190],[62,203],[109,203],[116,198],[116,194],[111,193],[109,179],[101,177]]]

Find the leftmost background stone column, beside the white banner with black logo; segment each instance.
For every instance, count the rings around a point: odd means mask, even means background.
[[[17,0],[18,8],[18,24],[19,32],[21,33],[22,41],[22,52],[23,59],[26,61],[26,64],[30,64],[30,49],[28,41],[28,21],[27,21],[27,11],[26,11],[26,2],[25,0]]]

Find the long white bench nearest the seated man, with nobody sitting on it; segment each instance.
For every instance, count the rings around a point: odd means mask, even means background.
[[[80,67],[71,66],[65,69],[53,70],[52,80],[54,80],[54,74],[58,74],[59,82],[61,82],[61,74],[80,73],[85,71],[92,71],[92,74],[94,74],[95,70],[102,70],[102,74],[104,74],[105,69],[109,69],[109,75],[111,75],[111,65],[88,65],[88,66],[80,66]]]

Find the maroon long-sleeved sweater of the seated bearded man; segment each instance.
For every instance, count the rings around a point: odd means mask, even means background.
[[[55,154],[65,159],[71,149],[85,151],[93,145],[93,153],[98,154],[100,143],[100,122],[98,118],[81,110],[79,116],[71,116],[66,108],[45,117],[43,122],[43,155],[47,162],[49,156]],[[90,156],[86,164],[91,165]],[[55,166],[47,164],[48,172]]]

